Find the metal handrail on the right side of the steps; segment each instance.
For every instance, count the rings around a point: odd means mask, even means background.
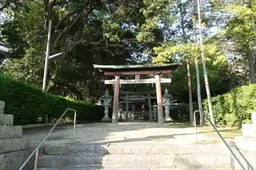
[[[194,111],[194,118],[196,117],[196,113],[199,112],[200,110],[196,110]],[[239,160],[238,156],[234,153],[234,151],[230,148],[230,146],[228,145],[227,141],[224,139],[224,137],[222,136],[222,134],[220,133],[220,131],[217,129],[217,127],[215,126],[215,124],[213,124],[211,122],[211,120],[209,119],[209,117],[204,113],[203,110],[201,110],[202,113],[205,115],[206,119],[209,121],[210,125],[212,126],[212,128],[214,128],[214,130],[217,132],[217,134],[220,136],[221,140],[225,143],[227,149],[230,151],[230,153],[232,154],[232,156],[238,161],[239,165],[242,167],[243,170],[247,170],[244,165],[242,164],[242,162]],[[197,138],[197,126],[196,126],[196,119],[194,120],[195,122],[195,134],[196,134],[196,138]]]

